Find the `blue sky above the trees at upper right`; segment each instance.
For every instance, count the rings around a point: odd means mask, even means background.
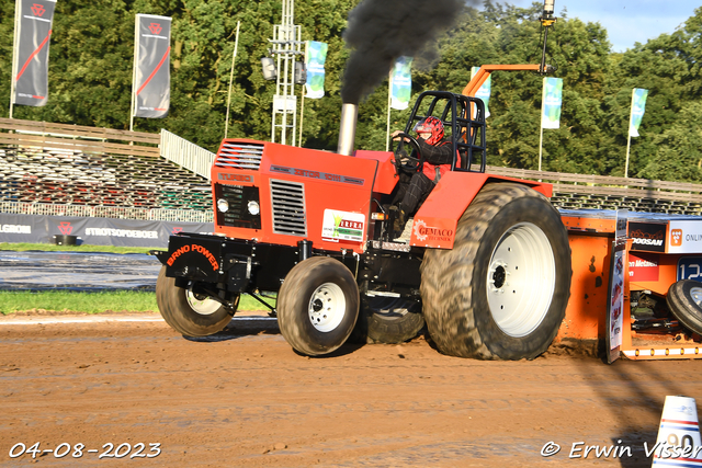
[[[529,7],[541,0],[507,0],[517,7]],[[625,52],[634,43],[645,44],[663,33],[672,33],[694,9],[700,0],[555,0],[556,16],[567,9],[569,19],[599,22],[605,30],[613,52]],[[502,3],[498,0],[499,3]],[[557,27],[557,24],[556,24]]]

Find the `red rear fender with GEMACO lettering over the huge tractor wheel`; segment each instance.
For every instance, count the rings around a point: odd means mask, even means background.
[[[528,185],[546,197],[553,185],[480,172],[446,172],[415,215],[409,244],[435,249],[453,249],[458,219],[480,189],[491,182]]]

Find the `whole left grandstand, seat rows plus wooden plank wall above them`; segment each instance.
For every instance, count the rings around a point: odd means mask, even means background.
[[[158,134],[9,118],[0,128],[11,130],[0,133],[0,203],[212,214],[210,181],[160,157]]]

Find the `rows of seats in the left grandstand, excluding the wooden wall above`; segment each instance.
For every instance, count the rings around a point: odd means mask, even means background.
[[[0,202],[212,209],[210,182],[161,158],[0,146]]]

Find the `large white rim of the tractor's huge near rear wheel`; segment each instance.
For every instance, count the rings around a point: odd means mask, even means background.
[[[512,338],[533,332],[551,307],[555,279],[553,249],[541,228],[520,222],[505,232],[487,273],[487,301],[500,330]]]

